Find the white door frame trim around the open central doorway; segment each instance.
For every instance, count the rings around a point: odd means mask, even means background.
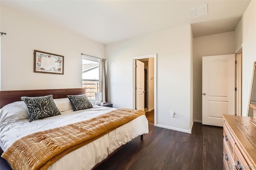
[[[157,115],[157,102],[156,102],[156,53],[150,55],[140,55],[136,57],[132,57],[132,109],[135,109],[136,105],[136,94],[135,94],[135,60],[136,59],[144,59],[144,58],[154,58],[154,126],[156,126],[156,115]]]

